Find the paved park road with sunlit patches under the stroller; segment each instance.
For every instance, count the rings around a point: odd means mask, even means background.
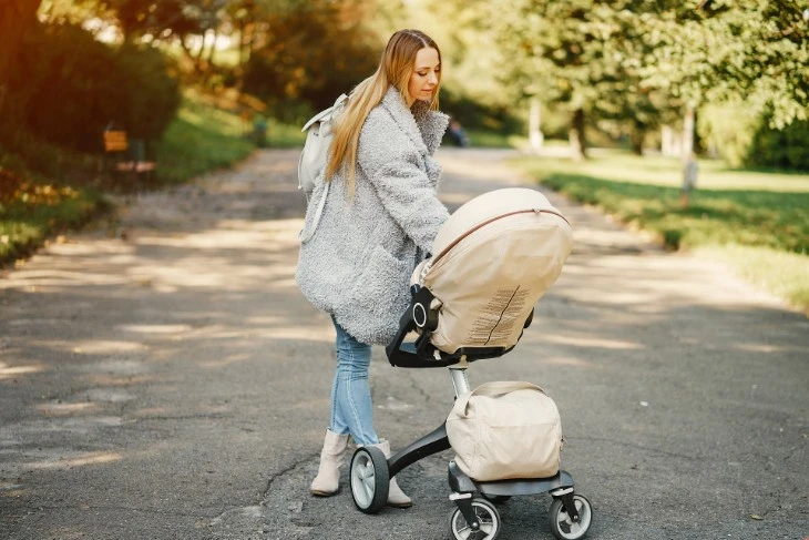
[[[442,150],[451,206],[521,180],[503,152]],[[334,353],[294,283],[295,152],[142,195],[0,277],[0,538],[449,538],[448,452],[400,473],[409,510],[313,499]],[[553,195],[551,195],[553,196]],[[667,254],[553,196],[575,231],[534,325],[472,384],[541,384],[591,538],[809,536],[809,322],[723,267]],[[442,370],[375,351],[380,434],[401,447],[452,400]],[[551,539],[546,497],[503,539]]]

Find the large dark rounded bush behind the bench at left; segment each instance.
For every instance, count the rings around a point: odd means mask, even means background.
[[[132,136],[158,137],[178,104],[178,85],[154,49],[115,51],[75,24],[38,24],[19,52],[7,100],[39,139],[98,152],[111,122]]]

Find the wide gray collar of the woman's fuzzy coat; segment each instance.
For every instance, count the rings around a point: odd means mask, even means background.
[[[412,109],[408,109],[396,86],[390,86],[385,93],[382,106],[413,141],[419,152],[432,155],[441,145],[441,137],[450,120],[447,114],[430,111],[424,101],[417,101]]]

